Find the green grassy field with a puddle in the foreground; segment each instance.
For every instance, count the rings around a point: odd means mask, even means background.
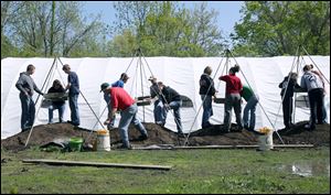
[[[172,165],[170,171],[25,164],[23,159]],[[1,151],[3,193],[330,193],[330,148],[111,152]],[[306,173],[293,173],[293,165]],[[309,170],[309,167],[311,167]],[[300,167],[298,169],[300,171]],[[301,170],[302,171],[302,170]],[[305,171],[305,170],[303,170]],[[307,174],[307,175],[305,175]]]

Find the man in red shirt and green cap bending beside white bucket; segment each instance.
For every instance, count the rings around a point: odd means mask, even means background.
[[[111,111],[108,115],[108,119],[105,121],[105,124],[111,122],[117,110],[120,110],[120,121],[119,121],[119,133],[122,140],[121,148],[131,149],[129,143],[128,128],[132,122],[135,128],[140,131],[139,140],[146,140],[148,138],[147,131],[140,120],[137,119],[136,115],[138,111],[137,104],[128,95],[128,93],[120,87],[110,87],[105,89],[105,93],[110,94]]]

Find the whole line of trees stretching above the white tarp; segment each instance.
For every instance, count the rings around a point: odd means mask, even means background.
[[[130,57],[330,55],[329,1],[245,1],[234,32],[207,2],[193,10],[179,1],[114,1],[116,20],[85,15],[78,1],[1,1],[3,57]],[[109,3],[109,7],[111,4]],[[88,18],[87,18],[88,17]],[[110,39],[109,39],[110,36]]]

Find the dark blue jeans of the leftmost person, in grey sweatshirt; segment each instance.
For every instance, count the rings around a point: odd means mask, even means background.
[[[22,116],[21,116],[21,129],[28,129],[33,126],[34,115],[35,115],[35,106],[31,96],[25,96],[20,93],[20,100],[22,107]]]

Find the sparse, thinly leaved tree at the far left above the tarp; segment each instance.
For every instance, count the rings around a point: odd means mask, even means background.
[[[98,48],[105,44],[104,24],[99,15],[90,17],[90,22],[83,19],[79,2],[18,1],[14,6],[20,9],[10,9],[15,10],[12,18],[6,17],[9,9],[4,6],[1,1],[1,31],[21,55],[72,56],[73,51],[75,55],[105,55],[99,53],[102,48],[97,54],[90,51],[92,45]]]

